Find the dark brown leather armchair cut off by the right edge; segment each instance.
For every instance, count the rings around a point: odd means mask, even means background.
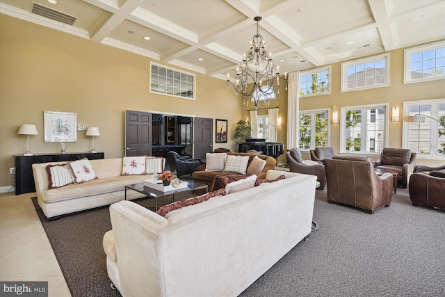
[[[410,177],[410,199],[415,207],[423,204],[445,209],[445,165],[416,166]]]

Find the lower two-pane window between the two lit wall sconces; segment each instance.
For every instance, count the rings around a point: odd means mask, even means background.
[[[341,152],[380,152],[387,143],[387,105],[341,109]]]

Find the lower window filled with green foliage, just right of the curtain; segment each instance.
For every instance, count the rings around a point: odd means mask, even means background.
[[[329,139],[329,111],[300,112],[300,149],[309,150],[315,147],[327,147]]]

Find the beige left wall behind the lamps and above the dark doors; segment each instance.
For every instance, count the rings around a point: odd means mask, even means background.
[[[0,187],[10,186],[14,155],[26,141],[20,125],[36,125],[31,152],[60,152],[60,143],[44,143],[43,111],[77,113],[77,122],[99,127],[95,148],[106,158],[124,154],[124,111],[165,111],[228,120],[228,143],[241,118],[241,100],[225,81],[197,74],[196,100],[149,93],[149,58],[0,15]],[[158,62],[159,63],[159,62]],[[213,121],[214,125],[214,121]],[[213,131],[213,134],[215,132]],[[91,138],[77,133],[67,152],[88,152]],[[214,141],[213,135],[213,141]]]

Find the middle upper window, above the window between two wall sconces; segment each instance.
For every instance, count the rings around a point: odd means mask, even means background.
[[[389,54],[341,63],[341,92],[389,86]]]

